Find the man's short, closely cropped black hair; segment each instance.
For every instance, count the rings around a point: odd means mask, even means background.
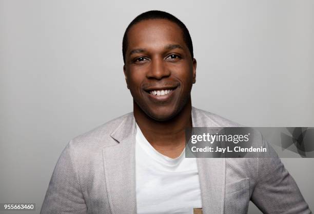
[[[181,22],[177,17],[175,17],[174,15],[172,15],[170,13],[160,11],[160,10],[150,10],[150,11],[144,12],[144,13],[136,16],[135,19],[133,19],[133,21],[126,28],[124,35],[123,35],[123,41],[122,41],[123,62],[125,63],[125,53],[126,53],[126,49],[128,47],[128,31],[129,31],[129,29],[133,25],[135,25],[136,23],[139,23],[139,22],[144,21],[144,20],[153,20],[153,19],[165,19],[165,20],[169,20],[169,21],[177,24],[182,30],[183,39],[184,39],[186,46],[188,47],[188,49],[191,53],[191,57],[193,59],[192,39],[191,39],[189,30],[186,28],[186,26],[183,24],[183,22]]]

